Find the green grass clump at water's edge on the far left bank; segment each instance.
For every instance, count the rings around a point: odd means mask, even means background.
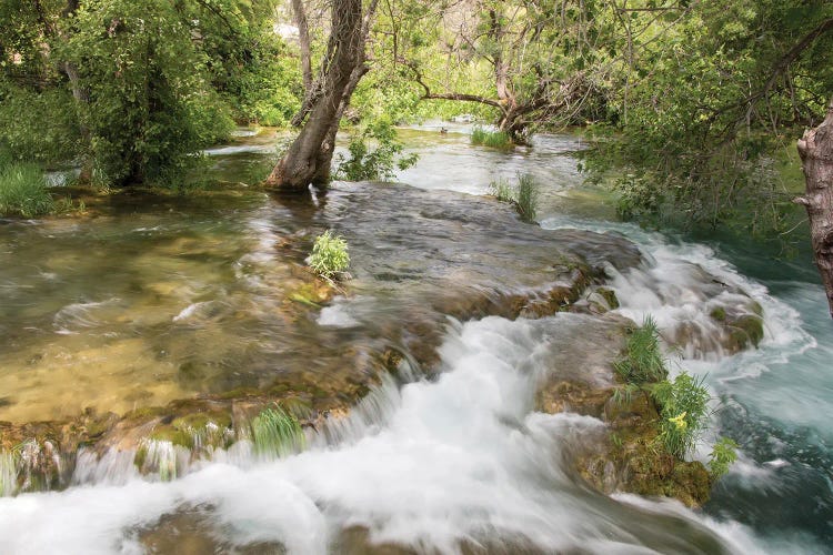
[[[34,218],[54,210],[43,172],[34,164],[0,165],[0,214]]]

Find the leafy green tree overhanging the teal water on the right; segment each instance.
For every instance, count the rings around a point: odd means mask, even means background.
[[[779,165],[833,90],[833,4],[629,1],[643,29],[613,73],[584,167],[611,179],[625,219],[786,236],[799,185]],[[629,23],[634,29],[633,23]]]

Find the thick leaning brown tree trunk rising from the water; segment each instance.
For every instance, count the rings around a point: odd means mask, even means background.
[[[335,0],[332,6],[332,40],[335,48],[323,75],[320,94],[310,108],[309,119],[265,184],[284,190],[305,190],[330,175],[334,131],[344,105],[350,101],[353,75],[364,64],[365,26],[361,0]],[[322,62],[325,63],[325,62]]]

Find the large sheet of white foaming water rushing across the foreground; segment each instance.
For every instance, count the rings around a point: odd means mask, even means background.
[[[649,553],[651,542],[681,542],[660,521],[636,534],[641,512],[586,491],[566,472],[565,450],[603,431],[600,421],[531,412],[560,332],[585,317],[456,326],[441,347],[448,372],[380,390],[390,392],[380,408],[387,422],[362,434],[357,424],[354,440],[337,446],[271,462],[242,456],[242,466],[229,464],[229,463],[170,483],[133,476],[0,500],[0,552],[134,553],[141,545],[131,531],[194,506],[211,507],[211,522],[233,545],[278,542],[299,554],[327,553],[353,526],[373,543],[426,553],[506,538],[544,552],[592,545]]]

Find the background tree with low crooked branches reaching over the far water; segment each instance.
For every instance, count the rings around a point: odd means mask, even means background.
[[[593,103],[603,97],[611,53],[615,56],[614,20],[604,2],[451,2],[438,9],[434,19],[434,27],[444,30],[435,40],[444,71],[436,68],[436,54],[409,52],[408,41],[398,41],[399,62],[412,70],[422,100],[491,107],[498,129],[515,142],[524,142],[532,124],[583,121],[589,110],[599,108]],[[407,36],[407,30],[395,31]],[[479,79],[451,89],[451,65],[458,72],[488,72],[490,90],[478,91]]]

